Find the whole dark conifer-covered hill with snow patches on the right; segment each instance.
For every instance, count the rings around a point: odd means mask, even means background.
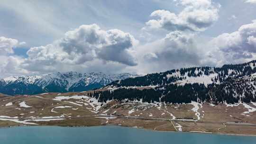
[[[192,67],[114,81],[100,99],[146,102],[256,102],[256,61],[222,67]],[[114,91],[114,92],[113,92]],[[96,96],[97,97],[97,96]]]

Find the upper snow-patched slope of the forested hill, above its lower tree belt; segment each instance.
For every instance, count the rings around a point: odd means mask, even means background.
[[[243,64],[229,64],[222,67],[192,67],[167,72],[147,74],[135,79],[125,79],[111,83],[112,86],[165,86],[186,83],[220,84],[256,73],[256,61]]]

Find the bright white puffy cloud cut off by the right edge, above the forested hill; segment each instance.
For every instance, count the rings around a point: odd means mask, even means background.
[[[256,54],[256,20],[241,26],[238,31],[213,38],[211,43],[233,59],[252,58]]]

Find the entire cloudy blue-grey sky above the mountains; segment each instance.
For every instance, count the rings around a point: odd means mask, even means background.
[[[1,0],[0,78],[256,60],[256,0]]]

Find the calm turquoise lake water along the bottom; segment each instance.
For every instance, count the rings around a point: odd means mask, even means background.
[[[256,136],[156,132],[121,126],[0,128],[0,144],[256,144]]]

